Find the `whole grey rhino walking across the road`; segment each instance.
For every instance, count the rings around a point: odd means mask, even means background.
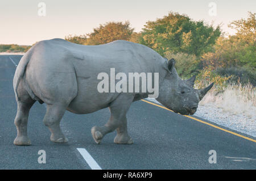
[[[148,92],[98,92],[97,75],[109,74],[110,68],[115,68],[116,73],[159,73],[157,100],[175,112],[193,114],[212,85],[203,90],[193,89],[195,77],[181,80],[174,65],[174,60],[167,61],[154,50],[129,41],[96,46],[73,44],[63,39],[40,41],[24,54],[15,71],[13,85],[18,110],[14,144],[31,144],[27,120],[36,100],[47,105],[43,122],[51,131],[51,141],[68,141],[60,130],[65,110],[85,114],[109,107],[108,122],[91,130],[94,141],[99,144],[105,134],[116,130],[115,143],[132,144],[127,133],[126,113],[131,103],[147,98]]]

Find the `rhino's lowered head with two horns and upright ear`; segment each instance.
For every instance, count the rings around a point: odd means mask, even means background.
[[[205,89],[193,89],[195,76],[182,80],[174,68],[175,60],[168,61],[167,73],[161,85],[159,85],[159,96],[156,98],[160,103],[170,110],[181,113],[181,115],[193,115],[196,112],[198,103],[204,95],[212,88],[211,83]]]

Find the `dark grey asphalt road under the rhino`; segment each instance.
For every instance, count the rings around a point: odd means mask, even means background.
[[[133,103],[127,114],[133,145],[114,144],[115,133],[100,145],[93,141],[90,129],[106,123],[108,109],[65,112],[61,128],[69,142],[55,144],[42,121],[45,105],[36,102],[28,118],[32,145],[15,146],[13,76],[21,57],[0,56],[0,169],[91,169],[77,148],[86,149],[101,169],[256,169],[255,142],[143,101]],[[45,164],[38,163],[39,150],[46,151]],[[209,163],[209,150],[216,150],[216,163]]]

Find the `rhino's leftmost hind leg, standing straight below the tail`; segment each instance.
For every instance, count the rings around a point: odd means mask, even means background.
[[[14,145],[31,145],[31,141],[27,136],[27,120],[30,108],[34,103],[35,100],[32,100],[27,94],[23,94],[20,100],[17,101],[18,109],[14,120],[14,124],[17,129],[17,136],[14,140]]]

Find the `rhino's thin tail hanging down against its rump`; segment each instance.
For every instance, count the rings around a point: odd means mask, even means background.
[[[13,88],[14,88],[14,92],[15,92],[17,100],[20,100],[19,95],[18,95],[19,82],[22,79],[22,77],[26,71],[27,64],[30,61],[30,58],[31,58],[31,51],[28,50],[28,52],[25,53],[23,55],[23,57],[20,59],[19,64],[16,67],[16,71],[15,71],[14,78],[13,78]]]

